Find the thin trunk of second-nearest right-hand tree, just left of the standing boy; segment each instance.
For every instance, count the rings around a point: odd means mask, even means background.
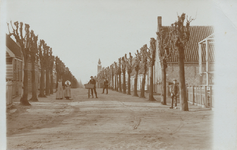
[[[161,93],[161,104],[166,105],[166,67],[164,64],[164,60],[162,62],[162,93]]]

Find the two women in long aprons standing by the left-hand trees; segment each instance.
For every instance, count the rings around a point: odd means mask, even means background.
[[[66,99],[71,98],[71,82],[69,80],[62,82],[62,79],[59,79],[57,85],[56,99]]]

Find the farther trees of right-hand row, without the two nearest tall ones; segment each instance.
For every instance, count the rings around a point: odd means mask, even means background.
[[[99,72],[97,75],[98,79],[109,79],[111,81],[112,87],[114,87],[114,90],[122,92],[124,94],[131,95],[130,86],[131,86],[131,73],[132,71],[135,72],[135,78],[134,78],[134,96],[138,96],[137,94],[137,80],[138,80],[138,74],[143,74],[142,78],[142,86],[141,86],[141,93],[140,97],[145,97],[145,79],[147,75],[148,69],[150,72],[150,86],[149,86],[149,100],[155,100],[153,97],[153,66],[155,62],[155,52],[156,52],[156,40],[154,38],[151,38],[150,40],[150,48],[147,47],[147,45],[143,45],[143,47],[140,48],[140,51],[137,50],[136,56],[133,58],[131,53],[129,53],[129,57],[127,57],[127,54],[125,56],[118,59],[118,62],[114,62],[110,65],[110,67],[106,67],[102,69],[102,71]],[[126,86],[126,73],[128,75],[127,78],[127,85]],[[123,75],[123,81],[121,80],[121,76]],[[115,81],[113,81],[115,80]],[[123,84],[122,84],[123,83]],[[150,92],[152,91],[152,92]]]

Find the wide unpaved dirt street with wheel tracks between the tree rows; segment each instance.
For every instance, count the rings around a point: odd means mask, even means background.
[[[7,110],[8,149],[212,149],[213,112],[189,111],[109,90],[87,98],[72,89],[71,100],[55,94]],[[146,95],[148,97],[148,94]]]

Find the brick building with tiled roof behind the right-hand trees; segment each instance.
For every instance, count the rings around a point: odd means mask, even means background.
[[[163,26],[162,28],[169,28]],[[187,85],[205,85],[206,84],[206,75],[200,75],[200,64],[199,64],[199,42],[208,36],[212,35],[214,29],[212,26],[191,26],[190,27],[190,39],[185,48],[185,80]],[[202,64],[206,63],[206,49],[205,44],[200,46],[202,51],[201,60]],[[209,83],[213,84],[213,71],[214,71],[214,45],[212,43],[208,44],[208,58],[209,58],[209,70],[212,72],[209,74]],[[154,66],[154,92],[161,93],[161,82],[162,82],[162,72],[161,66],[158,57],[158,44],[156,52],[156,62]],[[202,65],[203,70],[206,70],[205,66]],[[166,80],[167,83],[172,82],[172,79],[175,78],[179,82],[179,66],[178,66],[178,57],[171,56],[167,61],[166,69]]]

